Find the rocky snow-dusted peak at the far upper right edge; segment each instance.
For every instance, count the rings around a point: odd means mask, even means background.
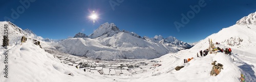
[[[255,12],[256,13],[256,12]],[[251,13],[248,16],[243,17],[242,19],[238,20],[236,24],[256,24],[256,14]]]

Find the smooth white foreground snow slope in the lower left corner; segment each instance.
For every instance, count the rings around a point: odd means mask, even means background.
[[[60,60],[45,52],[28,40],[23,45],[12,45],[9,51],[8,78],[0,74],[0,81],[112,81],[109,78],[92,76],[74,66],[60,63]],[[4,49],[0,49],[3,54]],[[4,56],[0,55],[1,61]],[[4,68],[0,62],[0,68]],[[3,73],[4,70],[1,70]],[[68,75],[72,73],[71,75]]]

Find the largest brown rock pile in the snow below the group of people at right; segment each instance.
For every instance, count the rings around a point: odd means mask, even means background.
[[[220,64],[220,63],[217,63],[217,61],[214,61],[211,63],[211,65],[214,65],[212,66],[212,69],[210,71],[210,75],[214,75],[214,76],[217,76],[220,72],[221,72],[221,69],[223,69],[223,65]]]

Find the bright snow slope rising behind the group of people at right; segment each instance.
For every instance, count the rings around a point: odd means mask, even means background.
[[[256,62],[254,61],[256,58],[256,23],[252,21],[255,21],[255,13],[243,17],[235,25],[209,35],[189,50],[199,52],[207,49],[209,47],[209,39],[213,43],[220,43],[216,47],[231,48],[233,62],[243,70],[244,74],[247,74],[247,77],[256,81]]]

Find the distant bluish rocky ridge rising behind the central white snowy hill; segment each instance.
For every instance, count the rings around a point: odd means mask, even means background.
[[[131,34],[132,36],[135,36],[135,37],[147,40],[147,41],[152,41],[155,43],[161,43],[166,46],[172,46],[172,47],[179,46],[179,47],[182,47],[185,49],[192,47],[191,45],[184,43],[181,40],[178,40],[174,36],[168,36],[166,38],[164,38],[161,35],[155,35],[152,38],[148,38],[147,36],[141,37],[140,35],[138,35],[135,32],[130,32],[130,31],[126,31],[126,30],[120,31],[119,28],[114,23],[108,23],[108,22],[101,24],[89,36],[87,36],[84,33],[79,32],[79,33],[75,34],[74,38],[97,38],[97,37],[100,37],[103,35],[105,35],[105,37],[111,37],[120,32],[125,32],[127,34]],[[105,38],[105,37],[101,37],[101,38]]]

